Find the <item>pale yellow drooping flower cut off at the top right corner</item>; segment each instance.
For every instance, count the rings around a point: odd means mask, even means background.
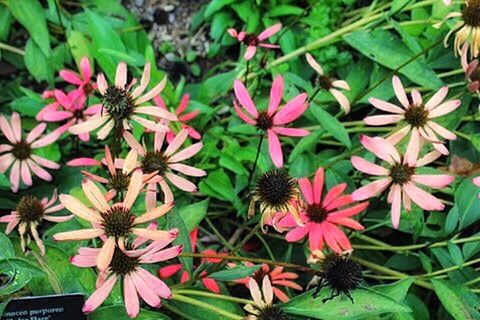
[[[451,0],[444,0],[444,3],[449,5]],[[444,44],[448,46],[448,39],[450,35],[455,32],[455,54],[460,54],[462,45],[469,44],[470,55],[474,58],[478,57],[480,53],[480,1],[466,0],[461,12],[450,12],[439,23],[435,24],[435,28],[440,26],[450,18],[460,18],[459,21],[445,36]]]

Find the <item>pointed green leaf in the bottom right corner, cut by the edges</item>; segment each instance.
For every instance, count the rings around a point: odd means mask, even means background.
[[[439,279],[432,279],[432,284],[440,302],[454,319],[480,319],[480,312],[476,309],[480,299],[469,288]]]

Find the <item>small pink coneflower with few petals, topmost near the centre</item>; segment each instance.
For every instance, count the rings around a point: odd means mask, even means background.
[[[282,29],[282,24],[276,23],[273,26],[263,30],[262,33],[260,33],[258,36],[254,34],[247,34],[245,31],[237,32],[237,30],[233,28],[230,28],[227,31],[228,34],[237,39],[240,43],[243,43],[247,46],[247,50],[245,51],[245,55],[243,56],[243,58],[248,61],[252,59],[257,52],[257,47],[268,49],[280,48],[280,46],[276,44],[269,44],[263,42],[276,34],[278,31],[280,31],[280,29]]]

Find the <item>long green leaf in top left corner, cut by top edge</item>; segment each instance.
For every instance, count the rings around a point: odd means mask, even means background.
[[[42,5],[38,0],[9,0],[12,15],[28,30],[45,57],[50,56],[50,38]]]

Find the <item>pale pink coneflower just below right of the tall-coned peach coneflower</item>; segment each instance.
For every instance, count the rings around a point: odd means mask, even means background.
[[[164,202],[173,201],[173,193],[167,181],[172,183],[180,190],[186,192],[196,192],[197,187],[192,182],[179,175],[173,173],[177,171],[191,177],[202,177],[207,173],[204,170],[180,163],[196,155],[202,148],[203,143],[197,142],[183,150],[179,150],[188,137],[188,130],[183,129],[168,144],[167,148],[162,151],[163,142],[165,140],[165,132],[155,132],[155,139],[152,149],[147,149],[140,145],[135,138],[127,133],[125,139],[127,143],[135,149],[141,159],[139,166],[145,174],[156,172],[157,174],[149,180],[147,185],[147,210],[153,208],[157,201],[157,184],[164,195]]]

